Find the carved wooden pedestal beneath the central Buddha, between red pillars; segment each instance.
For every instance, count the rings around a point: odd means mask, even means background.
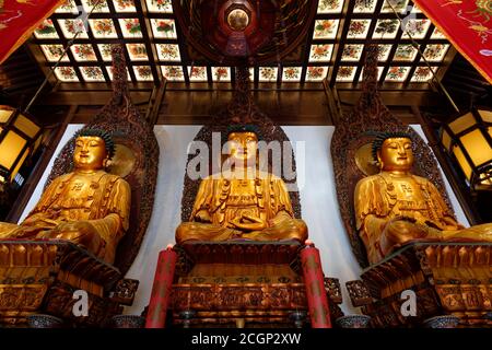
[[[171,303],[173,324],[298,327],[308,320],[301,248],[296,242],[175,246],[179,260]],[[327,291],[333,293],[333,311],[341,313],[336,284],[337,280],[328,280]]]

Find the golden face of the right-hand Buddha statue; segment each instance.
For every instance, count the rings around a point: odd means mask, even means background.
[[[384,171],[410,171],[413,164],[412,141],[409,138],[389,138],[378,152]]]

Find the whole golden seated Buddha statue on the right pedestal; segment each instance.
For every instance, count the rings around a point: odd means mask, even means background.
[[[371,264],[414,241],[492,242],[492,223],[465,229],[435,186],[411,173],[408,135],[379,135],[373,142],[373,156],[380,172],[361,179],[354,192],[356,229]]]

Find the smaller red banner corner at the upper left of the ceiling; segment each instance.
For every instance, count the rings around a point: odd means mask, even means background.
[[[0,65],[63,0],[0,0]]]

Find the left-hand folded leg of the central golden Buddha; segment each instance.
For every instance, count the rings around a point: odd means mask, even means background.
[[[176,243],[179,244],[187,241],[221,242],[239,238],[241,235],[241,231],[222,228],[211,223],[183,222],[176,229]]]

